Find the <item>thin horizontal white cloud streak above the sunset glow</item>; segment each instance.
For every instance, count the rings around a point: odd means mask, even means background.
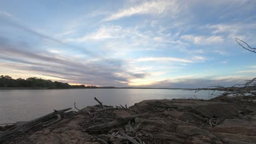
[[[136,59],[138,62],[148,62],[148,61],[162,61],[162,62],[184,62],[184,63],[192,63],[193,61],[189,59],[182,58],[174,58],[174,57],[143,57]]]

